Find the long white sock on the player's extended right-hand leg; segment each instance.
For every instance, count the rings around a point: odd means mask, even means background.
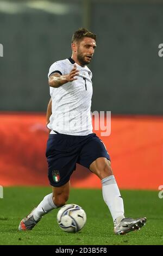
[[[116,226],[124,218],[124,206],[120,190],[114,175],[104,178],[101,182],[103,199],[106,205],[108,205],[114,225]]]

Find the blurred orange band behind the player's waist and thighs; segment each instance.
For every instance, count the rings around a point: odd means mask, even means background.
[[[1,113],[0,184],[47,186],[45,114]],[[101,137],[101,131],[96,131]],[[111,156],[118,186],[158,190],[163,182],[163,117],[112,116],[111,135],[101,137]],[[72,187],[100,188],[101,182],[77,164]]]

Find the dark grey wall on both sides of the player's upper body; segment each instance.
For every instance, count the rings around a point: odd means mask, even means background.
[[[64,14],[24,8],[1,10],[0,110],[46,111],[49,66],[71,55],[71,35],[82,26],[82,2]],[[92,111],[163,114],[163,5],[91,4],[91,30],[98,36],[92,60]]]

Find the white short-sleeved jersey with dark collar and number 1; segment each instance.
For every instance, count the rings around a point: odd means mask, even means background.
[[[67,75],[73,69],[74,63],[72,58],[53,63],[48,77],[54,73]],[[79,70],[79,75],[75,77],[77,80],[58,88],[50,87],[52,115],[48,127],[67,135],[85,136],[92,133],[92,72],[87,66],[76,65]]]

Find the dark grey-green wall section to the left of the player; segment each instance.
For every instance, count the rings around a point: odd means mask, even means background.
[[[64,15],[28,8],[4,14],[0,1],[1,111],[46,110],[49,66],[71,56],[71,34],[80,27],[81,16],[79,4]]]

